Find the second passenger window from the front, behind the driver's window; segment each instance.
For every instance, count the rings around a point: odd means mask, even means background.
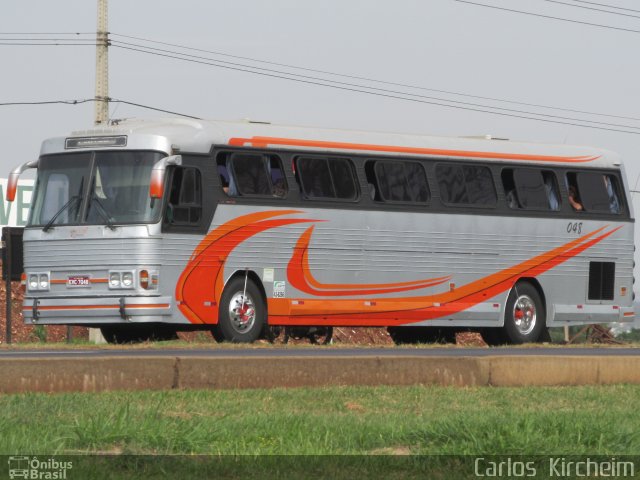
[[[306,197],[356,199],[354,170],[346,158],[300,157],[296,167]]]

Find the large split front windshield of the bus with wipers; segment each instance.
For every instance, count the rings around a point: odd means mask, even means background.
[[[79,152],[44,156],[28,226],[152,223],[149,199],[156,152]]]

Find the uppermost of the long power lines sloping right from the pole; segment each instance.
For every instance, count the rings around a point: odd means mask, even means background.
[[[492,102],[503,102],[503,103],[509,103],[509,104],[512,104],[512,105],[522,105],[522,106],[526,106],[526,107],[544,108],[544,109],[549,109],[549,110],[558,110],[558,111],[564,111],[564,112],[570,112],[570,113],[581,113],[581,114],[585,114],[585,115],[594,115],[594,116],[601,116],[601,117],[618,118],[618,119],[621,119],[621,120],[640,121],[640,118],[638,118],[638,117],[630,117],[630,116],[624,116],[624,115],[613,115],[613,114],[607,114],[607,113],[591,112],[591,111],[586,111],[586,110],[576,110],[576,109],[570,109],[570,108],[554,107],[554,106],[550,106],[550,105],[542,105],[542,104],[529,103],[529,102],[520,102],[520,101],[515,101],[515,100],[507,100],[507,99],[503,99],[503,98],[487,97],[487,96],[481,96],[481,95],[471,95],[471,94],[468,94],[468,93],[454,92],[454,91],[451,91],[451,90],[427,88],[427,87],[418,86],[418,85],[412,85],[412,84],[407,84],[407,83],[389,82],[389,81],[379,80],[379,79],[370,78],[370,77],[363,77],[363,76],[357,76],[357,75],[348,75],[348,74],[337,73],[337,72],[328,71],[328,70],[319,70],[319,69],[314,69],[314,68],[300,67],[300,66],[297,66],[297,65],[291,65],[291,64],[286,64],[286,63],[271,62],[271,61],[252,58],[252,57],[231,55],[229,53],[220,52],[220,51],[216,51],[216,50],[206,50],[206,49],[202,49],[202,48],[189,47],[189,46],[186,46],[186,45],[179,45],[179,44],[175,44],[175,43],[160,42],[160,41],[157,41],[157,40],[151,40],[151,39],[142,38],[142,37],[135,37],[135,36],[131,36],[131,35],[123,35],[123,34],[119,34],[119,33],[112,33],[111,35],[115,36],[115,37],[134,39],[134,40],[139,40],[139,41],[142,41],[142,42],[147,42],[147,43],[152,43],[152,44],[157,44],[157,45],[170,46],[170,47],[179,48],[179,49],[182,49],[182,50],[190,50],[190,51],[208,53],[208,54],[211,54],[211,55],[219,55],[219,56],[223,56],[223,57],[235,58],[235,59],[240,59],[240,60],[248,60],[248,61],[251,61],[251,62],[262,63],[262,64],[265,64],[265,65],[273,65],[273,66],[278,66],[278,67],[291,68],[291,69],[305,71],[305,72],[320,73],[320,74],[324,74],[324,75],[332,75],[332,76],[336,76],[336,77],[349,78],[349,79],[353,79],[353,80],[362,80],[362,81],[371,82],[371,83],[377,83],[377,84],[382,84],[382,85],[391,85],[391,86],[394,86],[394,87],[410,88],[410,89],[415,89],[415,90],[442,93],[442,94],[446,94],[446,95],[454,95],[454,96],[459,96],[459,97],[475,98],[475,99],[478,99],[478,100],[488,100],[488,101],[492,101]],[[126,44],[126,42],[121,42],[121,43],[125,43]],[[132,45],[132,44],[129,44],[129,45]],[[144,46],[142,48],[153,49],[153,47],[146,47],[146,46]],[[162,51],[161,49],[157,49],[157,50]],[[186,55],[186,54],[181,54],[181,53],[177,53],[177,54]],[[211,60],[213,60],[213,59],[211,59]],[[222,60],[220,60],[220,61],[222,61]],[[257,68],[257,67],[251,67],[251,68]],[[295,75],[295,74],[292,74],[292,75]]]

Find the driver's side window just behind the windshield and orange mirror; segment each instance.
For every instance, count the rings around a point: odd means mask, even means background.
[[[202,177],[194,167],[176,167],[166,212],[170,225],[198,226],[202,219]]]

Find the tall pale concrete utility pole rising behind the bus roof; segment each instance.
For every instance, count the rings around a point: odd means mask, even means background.
[[[109,122],[109,7],[108,0],[98,0],[96,32],[96,96],[95,124]]]

